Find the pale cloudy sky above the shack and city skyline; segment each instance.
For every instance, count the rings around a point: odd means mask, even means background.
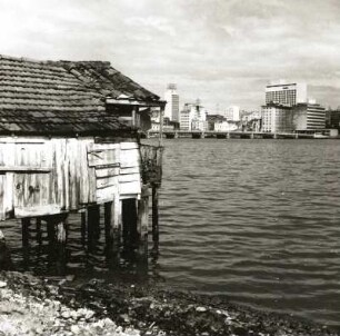
[[[272,80],[340,106],[340,0],[0,0],[0,55],[106,60],[210,113],[260,109]]]

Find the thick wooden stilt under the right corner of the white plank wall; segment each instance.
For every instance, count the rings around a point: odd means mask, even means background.
[[[148,224],[149,224],[149,186],[144,185],[141,189],[141,199],[138,201],[138,225],[140,247],[148,249]]]

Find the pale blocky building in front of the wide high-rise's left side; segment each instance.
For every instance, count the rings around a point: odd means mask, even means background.
[[[293,131],[292,108],[286,105],[268,103],[261,108],[262,131],[291,132]]]

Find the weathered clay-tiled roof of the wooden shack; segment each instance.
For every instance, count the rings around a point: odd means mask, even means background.
[[[96,132],[126,128],[106,98],[159,98],[108,62],[34,61],[0,56],[0,134]]]

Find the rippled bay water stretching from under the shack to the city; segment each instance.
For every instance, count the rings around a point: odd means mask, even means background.
[[[160,255],[142,276],[340,326],[340,141],[173,139],[164,146]],[[6,224],[4,231],[17,268],[54,271],[46,234],[28,256],[19,248],[20,227]],[[67,271],[107,276],[103,236],[92,251],[81,246],[79,226],[69,238]],[[141,273],[129,258],[114,271]]]

